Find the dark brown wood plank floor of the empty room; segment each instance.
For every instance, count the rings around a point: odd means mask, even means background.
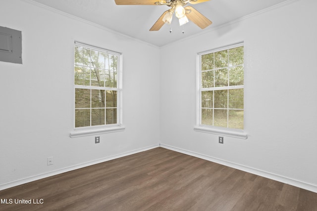
[[[2,190],[0,199],[0,211],[317,211],[317,193],[164,148]]]

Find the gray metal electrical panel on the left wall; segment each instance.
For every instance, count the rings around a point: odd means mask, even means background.
[[[0,61],[22,64],[22,33],[0,26]]]

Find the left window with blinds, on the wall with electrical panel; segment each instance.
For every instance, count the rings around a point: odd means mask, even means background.
[[[75,128],[121,124],[121,54],[75,42]]]

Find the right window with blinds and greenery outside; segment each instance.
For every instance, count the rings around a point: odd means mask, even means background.
[[[243,43],[199,54],[198,126],[244,129]]]

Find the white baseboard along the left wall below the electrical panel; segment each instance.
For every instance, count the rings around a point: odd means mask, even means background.
[[[25,183],[28,183],[28,182],[33,182],[35,180],[43,179],[43,178],[46,178],[46,177],[49,177],[49,176],[53,176],[53,175],[56,175],[56,174],[60,174],[60,173],[64,173],[64,172],[67,172],[67,171],[71,171],[71,170],[75,170],[75,169],[81,169],[81,168],[88,167],[88,166],[91,166],[91,165],[103,163],[103,162],[106,162],[106,161],[110,161],[110,160],[113,160],[113,159],[121,158],[121,157],[128,156],[128,155],[132,155],[132,154],[135,154],[135,153],[143,152],[143,151],[150,150],[150,149],[157,148],[157,147],[159,147],[159,144],[152,145],[152,146],[149,146],[149,147],[144,147],[144,148],[133,150],[133,151],[129,151],[129,152],[125,152],[125,153],[121,153],[121,154],[117,154],[117,155],[113,155],[113,156],[109,156],[109,157],[106,157],[106,158],[98,159],[98,160],[95,160],[95,161],[90,161],[90,162],[83,163],[83,164],[78,164],[78,165],[71,166],[71,167],[66,167],[66,168],[63,168],[63,169],[57,169],[57,170],[53,170],[53,171],[50,171],[50,172],[41,173],[41,174],[38,174],[38,175],[34,175],[34,176],[27,177],[27,178],[15,180],[15,181],[12,181],[12,182],[0,184],[0,190],[11,188],[11,187],[14,187],[14,186],[17,186],[17,185],[22,185],[22,184],[25,184]]]

